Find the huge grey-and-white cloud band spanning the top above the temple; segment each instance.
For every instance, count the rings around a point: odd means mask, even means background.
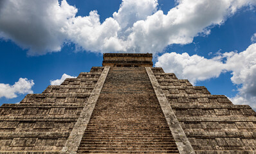
[[[170,44],[189,44],[197,35],[254,0],[179,0],[165,15],[156,0],[123,0],[113,17],[100,23],[92,11],[76,16],[66,0],[4,0],[0,7],[0,36],[10,39],[30,55],[60,51],[64,42],[92,52],[158,53]]]

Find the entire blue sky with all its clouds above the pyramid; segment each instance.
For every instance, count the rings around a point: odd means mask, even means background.
[[[0,105],[101,66],[102,53],[149,52],[165,72],[255,109],[255,6],[255,0],[1,1]]]

